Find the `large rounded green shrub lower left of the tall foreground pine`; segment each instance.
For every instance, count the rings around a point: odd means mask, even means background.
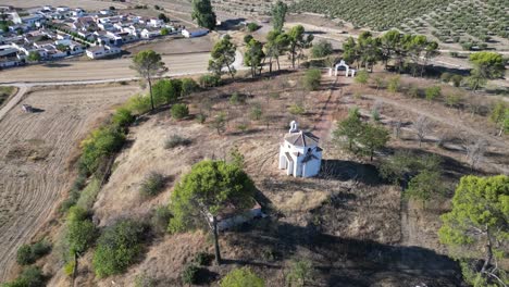
[[[146,227],[133,220],[123,220],[108,227],[99,237],[94,252],[94,271],[99,278],[124,273],[142,250]]]

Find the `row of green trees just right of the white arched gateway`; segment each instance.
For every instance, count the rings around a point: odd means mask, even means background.
[[[430,59],[438,54],[438,43],[423,35],[405,35],[397,30],[376,38],[363,32],[357,41],[348,38],[343,50],[345,61],[358,68],[372,70],[378,61],[387,68],[389,61],[394,61],[399,73],[409,68],[413,76],[423,76]]]

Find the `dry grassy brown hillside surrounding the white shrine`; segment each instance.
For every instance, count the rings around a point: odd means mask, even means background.
[[[384,73],[380,76],[386,77]],[[116,157],[112,175],[97,196],[92,207],[94,222],[101,229],[125,219],[135,219],[153,225],[156,210],[169,202],[174,185],[194,163],[202,159],[229,160],[229,151],[237,148],[244,155],[245,170],[258,189],[257,199],[263,207],[265,219],[259,219],[220,235],[224,264],[199,267],[200,285],[214,286],[228,271],[249,266],[263,277],[268,286],[283,286],[295,259],[309,260],[314,266],[316,286],[462,286],[459,266],[444,255],[436,230],[439,214],[449,209],[448,200],[433,201],[433,209],[422,209],[418,202],[400,204],[401,191],[378,174],[378,159],[370,162],[363,157],[346,153],[333,144],[332,121],[344,118],[350,107],[357,105],[362,114],[378,107],[383,125],[395,118],[412,122],[420,114],[433,118],[433,133],[421,148],[414,138],[413,126],[402,129],[401,138],[392,138],[387,152],[419,150],[421,154],[435,154],[443,159],[443,173],[454,184],[470,173],[463,155],[455,142],[471,133],[491,141],[489,155],[483,169],[496,172],[504,169],[507,151],[505,139],[493,138],[481,125],[481,116],[464,117],[461,124],[452,120],[442,103],[421,104],[414,110],[404,95],[386,91],[374,96],[374,89],[340,78],[342,84],[324,77],[321,88],[307,92],[300,84],[301,73],[278,75],[264,80],[239,80],[222,87],[194,93],[183,101],[190,107],[190,116],[176,121],[165,109],[139,118],[129,128],[128,145]],[[405,78],[402,85],[415,85]],[[419,86],[430,85],[429,80]],[[444,87],[448,92],[456,90]],[[240,91],[233,101],[232,95]],[[362,97],[356,95],[365,95]],[[293,103],[295,102],[295,103]],[[302,113],[290,113],[291,107],[301,105]],[[234,109],[232,109],[234,108]],[[261,109],[256,118],[253,109]],[[219,134],[213,118],[226,115],[226,128]],[[204,124],[194,117],[208,114]],[[296,118],[300,126],[321,137],[326,151],[322,173],[316,178],[288,177],[277,169],[277,147],[287,132],[287,123]],[[455,126],[457,137],[450,134]],[[442,135],[444,148],[435,141]],[[188,139],[186,146],[169,148],[166,141],[178,135]],[[436,139],[438,138],[438,139]],[[501,145],[501,146],[500,146]],[[384,152],[385,153],[385,152]],[[384,153],[376,158],[383,159]],[[494,171],[495,170],[495,171]],[[145,198],[140,185],[147,174],[156,172],[169,178],[158,196]],[[165,228],[160,226],[159,228]],[[79,259],[76,284],[83,286],[129,286],[137,278],[151,278],[156,286],[184,286],[183,272],[195,262],[200,252],[211,254],[213,245],[206,232],[161,234],[152,229],[147,234],[142,255],[126,273],[107,278],[94,275],[92,253]],[[59,246],[59,244],[55,244]],[[66,286],[59,254],[46,261],[45,270],[54,274],[49,286]]]

